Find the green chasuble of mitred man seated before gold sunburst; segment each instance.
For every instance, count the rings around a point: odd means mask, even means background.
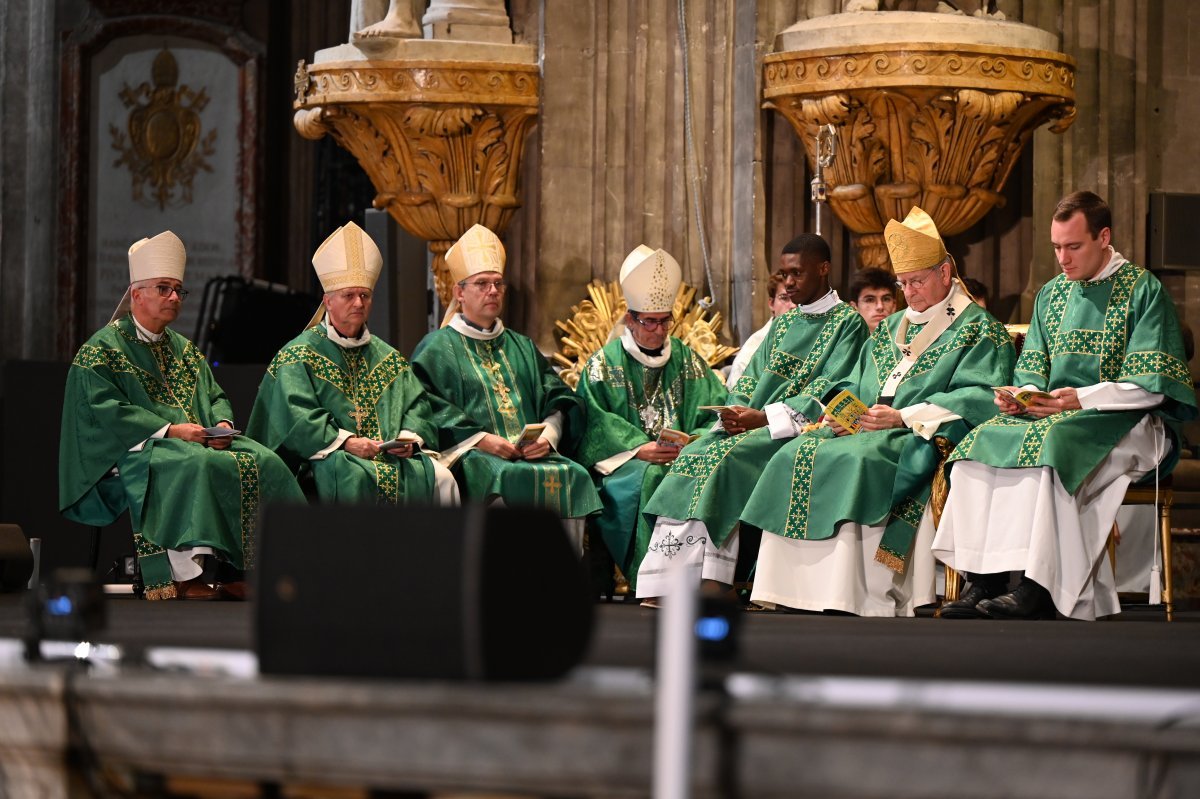
[[[620,338],[611,341],[588,359],[575,390],[587,403],[578,459],[589,468],[655,440],[664,427],[704,432],[713,414],[700,405],[720,404],[726,395],[704,359],[678,338],[671,338],[671,355],[659,367],[637,361]],[[666,473],[666,465],[634,457],[612,474],[596,475],[604,510],[595,529],[631,585],[650,543],[650,524],[641,510]]]

